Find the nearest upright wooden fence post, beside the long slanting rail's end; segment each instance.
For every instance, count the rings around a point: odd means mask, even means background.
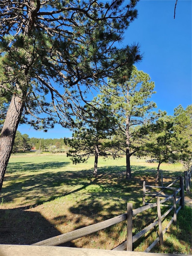
[[[133,204],[127,203],[127,251],[132,251],[133,248]]]

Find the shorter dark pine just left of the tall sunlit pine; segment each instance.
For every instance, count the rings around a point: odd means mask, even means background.
[[[93,99],[94,106],[85,105],[83,119],[76,121],[76,128],[72,138],[64,138],[64,143],[70,147],[67,156],[73,164],[86,162],[92,155],[95,156],[93,175],[98,175],[98,157],[113,157],[114,118],[108,112],[106,104],[97,98]]]

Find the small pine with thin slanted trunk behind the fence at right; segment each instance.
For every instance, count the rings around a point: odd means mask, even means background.
[[[161,163],[188,161],[191,152],[188,140],[179,136],[173,116],[164,115],[155,123],[146,125],[148,130],[146,152],[158,161],[155,183],[158,182]]]

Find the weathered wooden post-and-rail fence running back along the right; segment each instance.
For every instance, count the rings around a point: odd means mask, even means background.
[[[114,218],[102,221],[97,224],[93,224],[87,227],[83,227],[77,230],[70,231],[68,233],[61,234],[59,236],[54,236],[48,239],[45,239],[43,241],[34,243],[32,245],[43,245],[43,246],[55,246],[55,245],[61,245],[63,243],[69,242],[71,240],[80,238],[82,236],[86,236],[89,234],[92,234],[94,232],[97,232],[99,230],[105,229],[107,227],[110,227],[114,224],[117,224],[119,222],[127,220],[127,240],[114,248],[115,251],[123,251],[127,249],[127,251],[132,251],[133,243],[136,242],[140,237],[145,235],[146,232],[151,230],[155,226],[159,226],[159,237],[150,245],[145,252],[149,252],[159,241],[160,244],[163,244],[163,235],[167,231],[167,229],[170,227],[170,225],[173,223],[173,221],[176,223],[176,215],[179,212],[181,208],[184,207],[184,185],[183,185],[183,177],[180,178],[180,188],[171,188],[173,189],[173,194],[166,197],[163,200],[160,200],[161,195],[155,195],[157,197],[157,202],[155,203],[148,203],[140,208],[132,209],[132,204],[128,203],[127,205],[127,213],[121,214],[119,216],[116,216]],[[148,186],[149,187],[149,186]],[[159,187],[161,188],[161,187]],[[177,197],[177,194],[180,193],[179,197]],[[163,215],[161,215],[161,208],[160,205],[167,201],[173,201],[173,205],[170,206],[170,209]],[[178,209],[176,209],[176,204],[180,203],[180,206]],[[167,205],[166,205],[167,206]],[[141,230],[139,233],[133,236],[132,232],[132,218],[133,216],[137,215],[138,213],[144,212],[147,209],[157,207],[158,212],[158,219],[152,222],[149,226],[145,227],[143,230]],[[172,210],[174,210],[174,215],[167,227],[162,230],[162,224],[161,221],[163,218],[165,218]]]

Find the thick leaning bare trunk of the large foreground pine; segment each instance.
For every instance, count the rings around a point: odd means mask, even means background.
[[[4,175],[13,148],[17,127],[19,125],[24,101],[19,95],[13,95],[0,135],[0,191]]]

